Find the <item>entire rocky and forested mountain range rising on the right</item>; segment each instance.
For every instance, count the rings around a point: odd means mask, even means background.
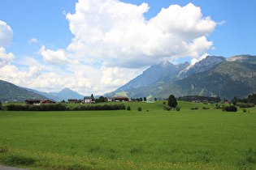
[[[154,79],[152,79],[154,78]],[[104,96],[166,99],[179,96],[219,96],[231,100],[256,92],[256,56],[207,56],[190,65],[165,61],[150,66],[137,78]]]

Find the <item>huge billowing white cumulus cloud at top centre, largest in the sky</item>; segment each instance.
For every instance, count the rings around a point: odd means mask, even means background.
[[[80,0],[76,13],[66,15],[74,34],[67,50],[80,59],[99,59],[107,66],[150,66],[171,57],[199,57],[217,23],[203,17],[200,7],[171,5],[145,20],[149,10],[118,0]]]

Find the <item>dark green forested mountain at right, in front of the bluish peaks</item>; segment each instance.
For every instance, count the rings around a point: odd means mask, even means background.
[[[175,96],[220,96],[231,100],[242,98],[256,91],[256,65],[245,62],[221,62],[210,70],[177,80],[160,91],[156,97]]]

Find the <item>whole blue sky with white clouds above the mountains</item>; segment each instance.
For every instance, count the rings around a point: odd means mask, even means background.
[[[168,60],[256,54],[255,0],[0,0],[0,79],[115,91]]]

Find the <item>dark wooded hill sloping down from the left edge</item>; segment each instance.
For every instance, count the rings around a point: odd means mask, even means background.
[[[22,87],[15,86],[13,83],[0,80],[0,101],[24,102],[28,99],[47,100],[46,96],[41,96],[33,91],[28,91]]]

